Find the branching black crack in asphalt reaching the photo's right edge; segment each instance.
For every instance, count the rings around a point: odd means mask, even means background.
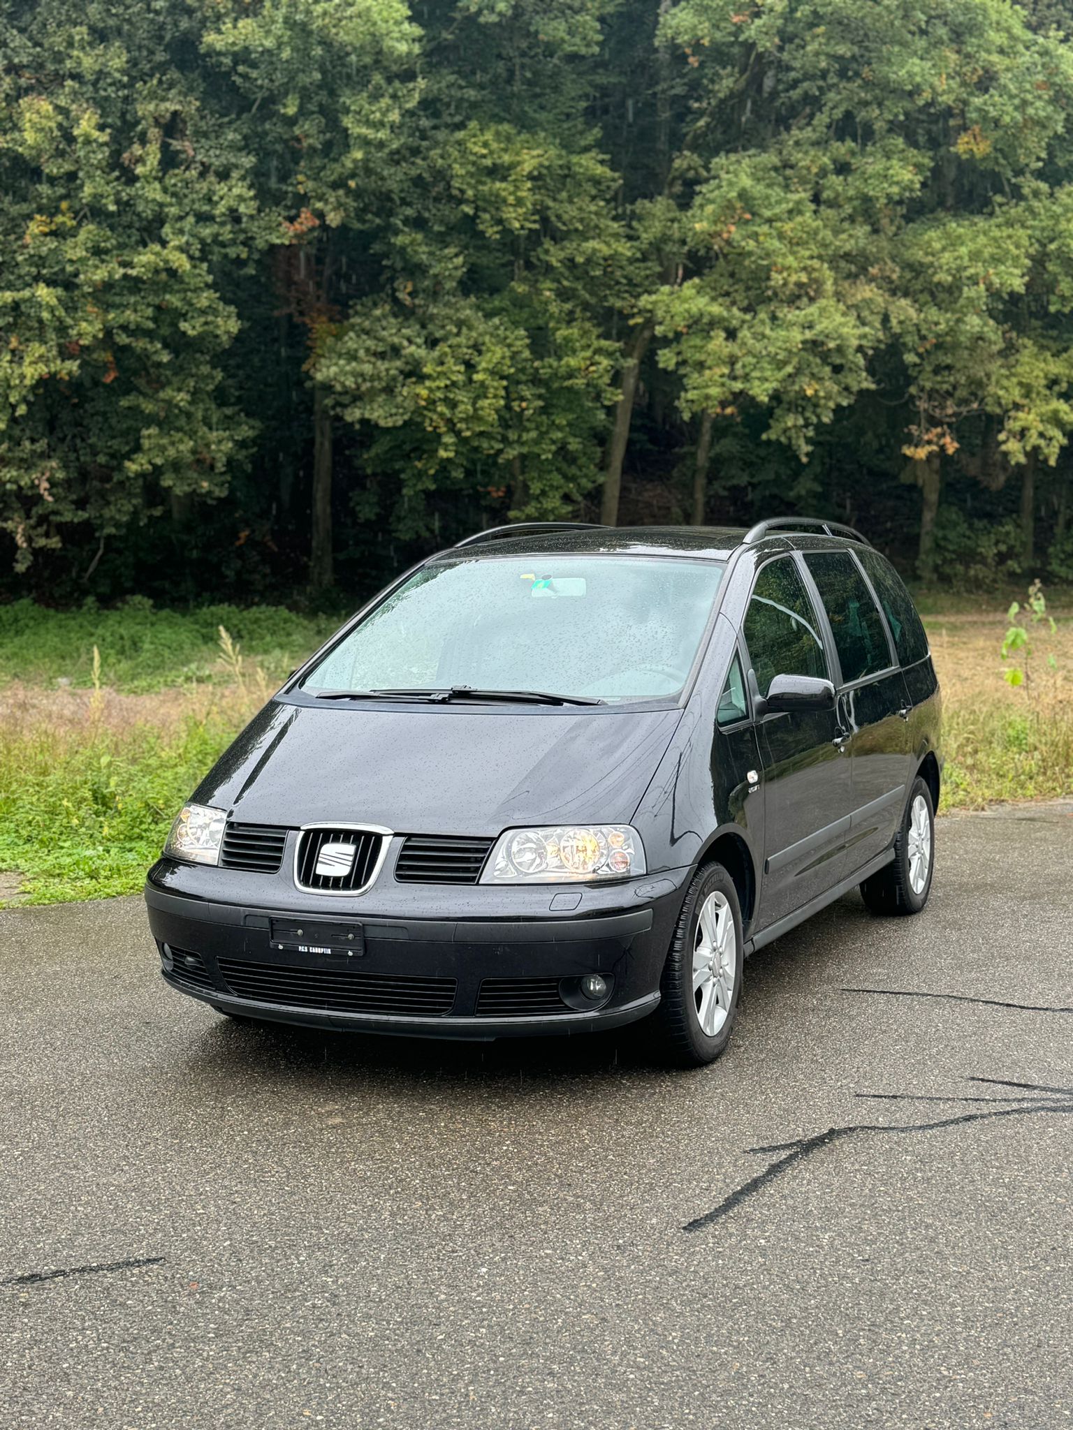
[[[734,1191],[731,1191],[718,1207],[712,1207],[711,1211],[705,1211],[701,1217],[694,1217],[692,1221],[687,1221],[682,1231],[702,1231],[705,1227],[712,1226],[712,1223],[720,1221],[722,1217],[728,1216],[735,1207],[740,1207],[744,1201],[755,1197],[758,1191],[768,1187],[773,1181],[777,1181],[784,1173],[790,1171],[797,1163],[804,1161],[814,1153],[818,1153],[824,1147],[830,1147],[834,1143],[843,1141],[847,1137],[853,1137],[857,1133],[933,1133],[940,1131],[947,1127],[964,1127],[970,1123],[986,1123],[999,1117],[1034,1117],[1039,1113],[1073,1113],[1073,1088],[1066,1087],[1042,1087],[1033,1083],[1009,1083],[1003,1078],[984,1078],[974,1077],[969,1078],[973,1083],[990,1083],[999,1087],[1016,1087],[1023,1088],[1036,1094],[1044,1094],[1042,1100],[1039,1098],[1023,1098],[1016,1100],[1016,1107],[993,1107],[986,1113],[960,1113],[957,1117],[944,1117],[933,1123],[851,1123],[846,1127],[828,1127],[825,1133],[817,1133],[813,1137],[798,1137],[790,1143],[771,1143],[765,1147],[747,1147],[745,1151],[750,1153],[784,1153],[775,1161],[770,1163],[764,1171],[757,1173],[755,1177],[750,1177],[748,1181],[743,1183]],[[1054,1095],[1057,1094],[1057,1095]],[[951,1101],[951,1103],[1007,1103],[1014,1101],[1007,1097],[950,1097],[950,1098],[936,1098],[929,1094],[914,1094],[914,1093],[857,1093],[857,1097],[876,1097],[876,1098],[891,1098],[900,1101]]]

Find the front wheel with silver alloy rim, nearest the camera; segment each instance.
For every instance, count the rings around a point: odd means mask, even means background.
[[[690,882],[652,1015],[657,1047],[675,1067],[714,1062],[730,1042],[741,992],[741,908],[721,864]]]

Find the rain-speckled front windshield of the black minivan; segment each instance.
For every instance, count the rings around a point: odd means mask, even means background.
[[[438,562],[371,612],[303,688],[677,695],[722,571],[712,561],[619,555]]]

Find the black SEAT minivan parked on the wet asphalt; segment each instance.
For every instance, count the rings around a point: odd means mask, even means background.
[[[916,914],[940,696],[837,522],[496,528],[369,602],[149,871],[175,990],[236,1018],[727,1045],[747,954],[860,885]]]

